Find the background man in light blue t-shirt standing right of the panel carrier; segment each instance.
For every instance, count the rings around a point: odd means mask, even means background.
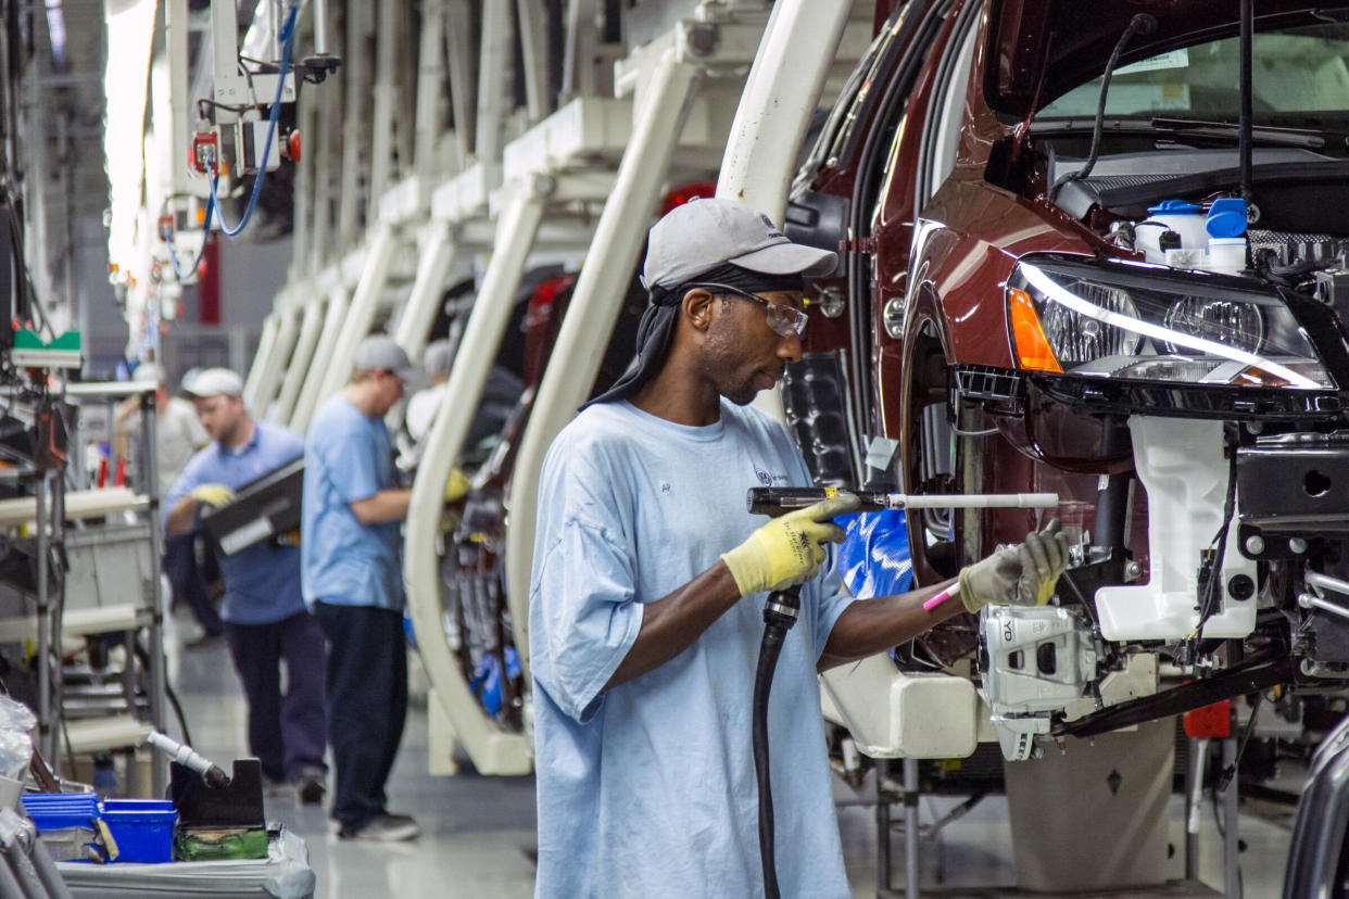
[[[304,588],[328,636],[332,817],[344,840],[411,840],[384,782],[407,713],[401,522],[409,488],[394,477],[384,415],[413,373],[384,334],[356,348],[347,387],[314,415],[305,442]]]

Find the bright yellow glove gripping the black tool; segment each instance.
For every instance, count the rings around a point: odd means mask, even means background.
[[[857,505],[857,496],[840,493],[831,500],[769,519],[747,540],[722,555],[741,596],[796,586],[815,577],[824,561],[822,545],[843,539],[843,528],[834,524],[834,516],[854,512]]]

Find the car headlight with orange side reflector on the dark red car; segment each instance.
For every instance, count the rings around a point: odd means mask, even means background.
[[[1028,256],[1006,286],[1021,368],[1188,384],[1333,388],[1272,290],[1135,263]]]

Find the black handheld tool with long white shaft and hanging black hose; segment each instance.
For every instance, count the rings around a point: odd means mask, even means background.
[[[747,496],[749,511],[754,515],[777,518],[807,508],[822,500],[846,496],[850,491],[832,487],[755,487]],[[858,512],[911,508],[1054,508],[1058,493],[884,493],[876,491],[853,492],[858,497]],[[947,598],[940,593],[924,605],[932,608]],[[764,894],[778,899],[777,865],[773,846],[773,790],[769,780],[768,698],[773,686],[773,671],[782,650],[786,632],[796,624],[801,609],[801,588],[773,590],[764,604],[764,640],[759,644],[758,664],[754,670],[754,704],[751,739],[754,744],[754,778],[758,782],[759,857],[764,864]]]

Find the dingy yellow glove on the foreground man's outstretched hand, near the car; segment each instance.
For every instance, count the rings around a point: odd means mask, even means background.
[[[989,602],[1048,602],[1054,585],[1068,566],[1068,539],[1059,527],[1059,519],[1054,519],[1043,531],[1027,534],[1024,543],[960,569],[960,601],[965,608],[977,613]]]

